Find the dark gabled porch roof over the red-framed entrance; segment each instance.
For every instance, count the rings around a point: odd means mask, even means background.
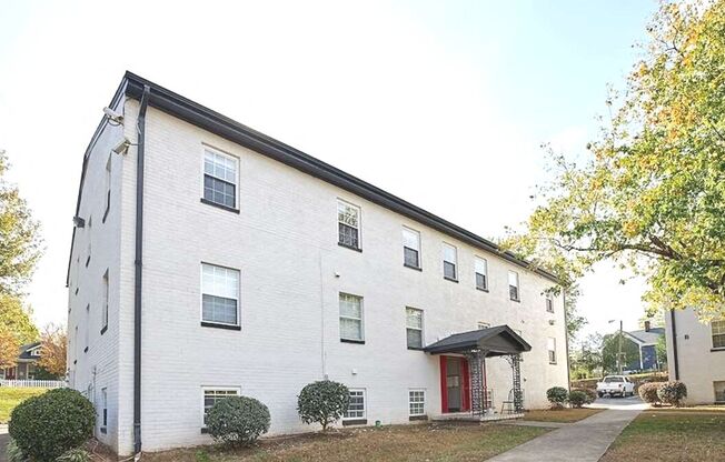
[[[487,356],[500,356],[530,351],[532,345],[508,325],[496,325],[455,333],[424,348],[430,354],[467,353],[473,350],[485,351]]]

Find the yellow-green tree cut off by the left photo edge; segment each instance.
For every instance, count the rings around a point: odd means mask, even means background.
[[[18,188],[4,179],[8,157],[0,151],[0,293],[18,294],[41,254],[39,224]]]

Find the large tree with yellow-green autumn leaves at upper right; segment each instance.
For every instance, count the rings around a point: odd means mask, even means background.
[[[526,242],[586,271],[614,259],[648,310],[725,315],[725,0],[663,2],[584,162],[553,155]]]

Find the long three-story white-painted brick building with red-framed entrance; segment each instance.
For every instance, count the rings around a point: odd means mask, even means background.
[[[326,378],[350,389],[344,425],[567,386],[552,274],[140,77],[110,108],[83,155],[68,360],[120,454],[210,442],[206,411],[236,394],[270,434],[309,431],[297,395]]]

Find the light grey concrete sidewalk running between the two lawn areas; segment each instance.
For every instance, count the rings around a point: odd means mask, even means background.
[[[596,462],[639,410],[608,410],[535,438],[490,462]]]

